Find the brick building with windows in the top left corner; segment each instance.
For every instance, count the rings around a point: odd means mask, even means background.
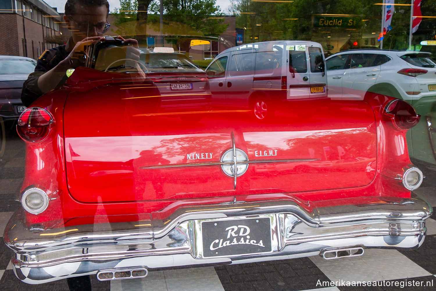
[[[44,41],[59,35],[61,16],[41,0],[0,0],[0,55],[38,58],[56,45]]]

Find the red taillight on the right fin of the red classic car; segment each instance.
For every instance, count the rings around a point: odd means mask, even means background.
[[[385,116],[391,117],[395,126],[401,130],[407,130],[418,124],[421,116],[409,103],[394,99],[385,106]]]

